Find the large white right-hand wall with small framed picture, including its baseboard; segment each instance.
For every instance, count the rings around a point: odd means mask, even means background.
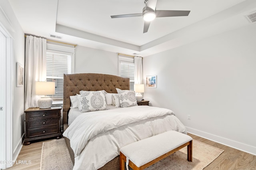
[[[256,154],[256,24],[143,58],[144,99],[199,136]],[[187,119],[191,115],[191,120]]]

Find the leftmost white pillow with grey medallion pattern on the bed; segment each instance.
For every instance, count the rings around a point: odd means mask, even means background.
[[[81,112],[107,110],[105,93],[102,91],[86,91],[81,94]]]

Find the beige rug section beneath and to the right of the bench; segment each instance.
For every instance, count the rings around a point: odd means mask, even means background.
[[[187,147],[146,168],[146,170],[202,170],[224,150],[193,139],[192,162],[187,160]]]

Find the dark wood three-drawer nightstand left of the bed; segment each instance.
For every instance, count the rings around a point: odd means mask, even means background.
[[[56,137],[61,138],[60,130],[60,110],[54,109],[28,108],[24,114],[25,139],[24,145],[30,144],[32,140]]]

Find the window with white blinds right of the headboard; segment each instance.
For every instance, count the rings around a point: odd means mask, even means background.
[[[130,78],[130,90],[134,90],[134,58],[119,56],[119,76]]]

